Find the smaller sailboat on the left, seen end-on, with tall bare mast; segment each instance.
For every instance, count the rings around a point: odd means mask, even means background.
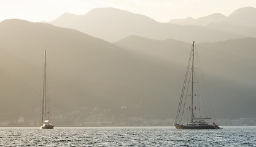
[[[54,125],[50,124],[50,99],[47,97],[46,81],[46,50],[44,51],[44,86],[42,97],[42,119],[41,129],[53,129]]]

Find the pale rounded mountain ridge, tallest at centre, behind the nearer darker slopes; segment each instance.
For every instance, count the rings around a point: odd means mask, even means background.
[[[79,16],[64,13],[60,18],[49,23],[77,29],[109,42],[115,42],[131,35],[157,40],[176,39],[184,42],[192,42],[193,39],[198,42],[216,42],[242,37],[232,32],[216,31],[201,26],[158,23],[144,15],[114,8],[93,9]]]

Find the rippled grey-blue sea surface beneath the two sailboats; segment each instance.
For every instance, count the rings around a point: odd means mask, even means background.
[[[0,127],[0,146],[256,146],[256,127]]]

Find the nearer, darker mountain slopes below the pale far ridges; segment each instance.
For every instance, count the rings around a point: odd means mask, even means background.
[[[0,31],[2,120],[39,121],[45,48],[55,123],[176,115],[192,42],[128,36],[109,43],[25,20],[4,20]],[[256,117],[255,41],[196,43],[218,118]]]

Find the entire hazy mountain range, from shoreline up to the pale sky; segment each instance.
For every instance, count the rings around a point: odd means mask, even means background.
[[[158,23],[99,8],[64,13],[50,24],[4,20],[0,125],[21,116],[39,121],[45,49],[55,123],[130,126],[172,119],[193,40],[217,118],[255,118],[255,15],[255,8],[245,7],[228,17]]]

